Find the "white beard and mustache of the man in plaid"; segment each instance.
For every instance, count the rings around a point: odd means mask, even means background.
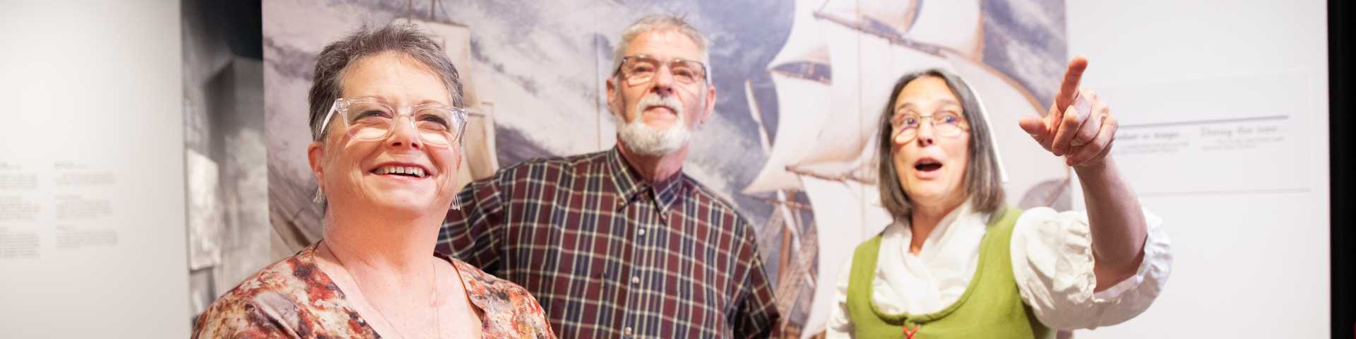
[[[648,107],[669,107],[677,113],[677,119],[674,126],[658,130],[645,125],[643,114]],[[626,149],[641,156],[663,156],[677,152],[683,145],[687,145],[687,138],[692,137],[692,130],[687,129],[687,121],[683,118],[682,102],[675,96],[659,96],[655,94],[645,95],[640,98],[636,103],[635,119],[626,123],[625,118],[617,118],[617,136],[621,137],[621,142],[626,144]]]

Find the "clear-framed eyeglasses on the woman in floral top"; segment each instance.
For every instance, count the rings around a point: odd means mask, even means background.
[[[397,106],[377,98],[339,98],[330,107],[320,130],[338,115],[348,137],[358,141],[378,141],[391,137],[400,115],[408,117],[408,127],[419,132],[419,140],[430,146],[446,148],[461,138],[466,126],[466,110],[426,103]]]

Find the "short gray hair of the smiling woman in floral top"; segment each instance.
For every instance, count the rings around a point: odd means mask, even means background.
[[[325,132],[320,130],[320,126],[324,125],[321,119],[330,113],[335,99],[343,96],[343,77],[348,66],[365,57],[386,52],[408,56],[431,69],[447,87],[447,99],[452,100],[452,106],[462,107],[461,77],[457,75],[457,68],[452,65],[452,60],[442,52],[442,45],[434,42],[419,26],[412,23],[396,20],[381,27],[363,24],[347,37],[325,45],[320,56],[316,56],[316,76],[311,83],[308,98],[311,102],[311,138],[313,141],[321,141],[325,137]]]

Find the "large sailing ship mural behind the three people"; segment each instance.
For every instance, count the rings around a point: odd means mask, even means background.
[[[443,43],[472,114],[465,184],[526,159],[612,148],[603,81],[621,30],[652,14],[683,16],[712,41],[716,111],[682,171],[755,225],[792,336],[823,331],[841,263],[890,222],[871,141],[902,75],[942,68],[976,88],[1009,203],[1075,206],[1067,167],[1017,127],[1045,111],[1063,73],[1060,0],[266,1],[273,258],[320,239],[304,155],[306,91],[327,42],[407,20]]]

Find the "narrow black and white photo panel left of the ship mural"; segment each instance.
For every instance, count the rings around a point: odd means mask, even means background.
[[[245,3],[180,1],[188,302],[194,319],[274,262],[268,258],[259,16],[240,5]]]

